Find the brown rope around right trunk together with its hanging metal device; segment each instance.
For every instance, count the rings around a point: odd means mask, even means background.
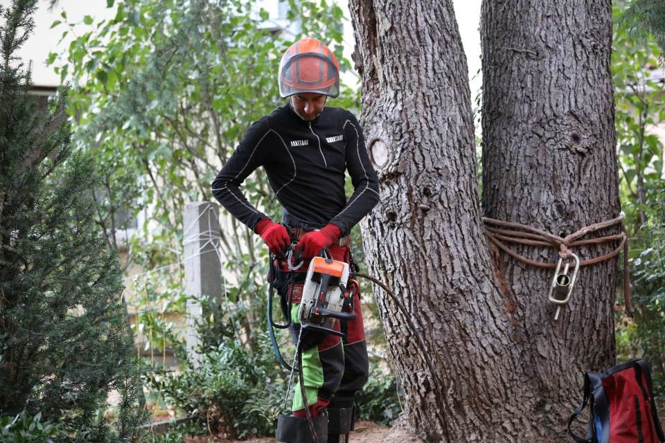
[[[486,233],[488,239],[491,242],[496,244],[499,248],[502,249],[511,257],[516,258],[526,264],[531,264],[532,266],[538,266],[540,268],[555,268],[554,277],[549,288],[549,294],[547,296],[548,300],[554,303],[556,307],[556,313],[554,314],[554,320],[558,320],[559,314],[562,307],[565,307],[573,293],[574,284],[577,280],[577,273],[580,266],[585,266],[587,264],[595,264],[602,262],[603,260],[609,260],[612,257],[619,255],[623,249],[623,300],[626,302],[626,311],[630,314],[630,277],[628,275],[628,235],[626,234],[626,228],[623,226],[623,217],[624,214],[620,213],[619,217],[610,219],[607,221],[601,221],[600,223],[591,224],[585,226],[580,230],[567,235],[566,237],[558,237],[551,233],[547,233],[544,230],[538,228],[533,228],[521,223],[515,223],[512,221],[502,221],[497,219],[490,219],[488,217],[483,217],[483,221],[486,228]],[[608,228],[610,226],[620,225],[621,233],[614,235],[605,235],[603,237],[592,238],[592,239],[580,239],[581,237],[600,230],[603,228]],[[619,241],[619,246],[614,248],[614,250],[608,254],[601,255],[599,257],[589,258],[587,260],[580,260],[578,255],[570,251],[571,247],[582,246],[586,244],[601,244],[605,242],[616,242]],[[559,261],[556,264],[553,263],[544,263],[538,262],[536,260],[530,260],[517,252],[512,248],[507,246],[504,242],[508,243],[517,243],[517,244],[528,244],[531,246],[547,246],[551,248],[559,248]],[[574,269],[569,275],[569,266],[574,263]],[[560,272],[561,266],[564,267],[563,271]]]

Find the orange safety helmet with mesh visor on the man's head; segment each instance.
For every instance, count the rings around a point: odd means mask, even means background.
[[[282,97],[303,92],[339,96],[339,65],[335,54],[310,37],[295,42],[282,55],[277,80]]]

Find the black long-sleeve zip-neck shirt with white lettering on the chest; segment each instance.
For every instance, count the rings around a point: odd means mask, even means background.
[[[260,166],[287,213],[310,226],[332,223],[347,235],[378,203],[378,179],[362,130],[344,109],[324,107],[306,122],[287,103],[251,125],[212,188],[220,204],[252,230],[266,215],[247,201],[240,185]],[[354,188],[348,201],[345,170]]]

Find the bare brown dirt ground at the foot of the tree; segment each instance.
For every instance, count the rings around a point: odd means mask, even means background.
[[[423,440],[414,437],[401,422],[389,428],[377,426],[372,422],[357,422],[355,431],[351,433],[351,443],[423,443]],[[240,443],[238,440],[221,440],[214,437],[193,437],[185,440],[186,443]],[[274,443],[274,438],[254,438],[244,440],[242,443]]]

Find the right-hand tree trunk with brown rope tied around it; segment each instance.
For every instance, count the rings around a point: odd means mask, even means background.
[[[486,0],[481,28],[486,215],[560,236],[617,217],[611,1]],[[601,234],[609,233],[619,228]],[[585,259],[616,246],[574,252]],[[520,251],[558,259],[552,249]],[[547,428],[560,428],[578,402],[580,372],[614,364],[617,260],[583,266],[569,309],[554,322],[543,297],[552,271],[501,257],[532,395],[553,406],[540,410]]]

